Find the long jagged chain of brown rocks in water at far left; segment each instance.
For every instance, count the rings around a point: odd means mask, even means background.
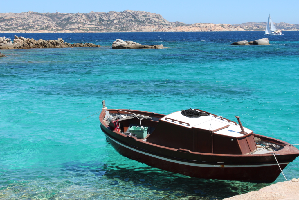
[[[58,38],[57,40],[34,40],[33,38],[18,37],[15,35],[13,42],[5,37],[0,37],[0,49],[31,49],[31,48],[65,48],[65,47],[100,47],[93,43],[67,43]]]

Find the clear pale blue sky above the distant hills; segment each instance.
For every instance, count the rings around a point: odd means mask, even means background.
[[[2,3],[4,12],[96,12],[141,10],[159,13],[170,22],[228,23],[274,22],[299,24],[299,0],[12,0]],[[0,14],[1,16],[1,14]]]

